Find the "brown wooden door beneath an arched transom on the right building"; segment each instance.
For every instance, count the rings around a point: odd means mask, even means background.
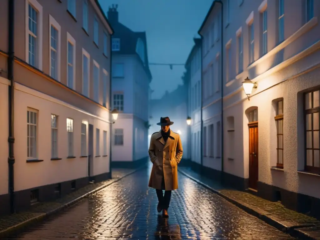
[[[258,183],[258,126],[249,127],[249,188],[257,190]]]

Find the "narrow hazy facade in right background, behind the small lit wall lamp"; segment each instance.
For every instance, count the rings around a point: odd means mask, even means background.
[[[188,84],[188,159],[201,164],[201,39],[194,38],[194,46],[185,63]],[[185,154],[184,154],[185,155]]]

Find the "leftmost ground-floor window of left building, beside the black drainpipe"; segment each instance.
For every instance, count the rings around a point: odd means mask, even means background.
[[[27,111],[27,149],[28,159],[37,158],[37,111]]]

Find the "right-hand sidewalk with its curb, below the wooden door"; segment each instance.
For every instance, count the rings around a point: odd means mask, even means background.
[[[224,188],[220,182],[201,176],[190,167],[181,166],[178,170],[244,211],[293,237],[320,239],[320,221],[313,217],[287,209],[279,202],[270,202],[247,192]]]

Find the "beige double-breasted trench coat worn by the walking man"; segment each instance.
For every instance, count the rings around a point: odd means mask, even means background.
[[[149,156],[153,163],[149,187],[161,189],[164,176],[165,190],[178,188],[177,166],[182,158],[182,144],[178,133],[170,131],[168,140],[164,142],[161,130],[151,136]]]

